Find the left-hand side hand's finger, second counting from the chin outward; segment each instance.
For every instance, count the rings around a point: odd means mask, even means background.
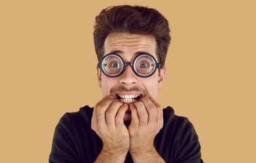
[[[113,101],[106,111],[106,122],[108,124],[108,128],[110,130],[116,130],[116,125],[115,125],[115,117],[118,109],[123,105],[123,103],[119,101]]]

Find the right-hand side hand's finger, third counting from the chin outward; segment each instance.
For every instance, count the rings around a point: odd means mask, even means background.
[[[146,111],[148,111],[148,124],[155,124],[157,122],[157,107],[147,96],[140,101],[144,103]]]

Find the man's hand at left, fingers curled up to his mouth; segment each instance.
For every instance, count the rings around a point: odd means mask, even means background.
[[[91,128],[103,141],[102,151],[109,157],[125,159],[129,150],[129,132],[123,122],[127,109],[127,104],[113,96],[102,98],[94,107]]]

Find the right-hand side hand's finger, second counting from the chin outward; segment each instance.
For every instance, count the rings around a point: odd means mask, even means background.
[[[146,111],[145,105],[142,101],[136,101],[133,103],[137,108],[137,112],[139,115],[140,126],[139,128],[144,128],[148,124],[148,111]]]

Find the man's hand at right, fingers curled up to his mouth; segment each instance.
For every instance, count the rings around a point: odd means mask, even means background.
[[[154,139],[163,127],[163,109],[149,95],[129,105],[131,124],[128,127],[130,136],[130,153],[136,157],[146,157],[155,153]]]

